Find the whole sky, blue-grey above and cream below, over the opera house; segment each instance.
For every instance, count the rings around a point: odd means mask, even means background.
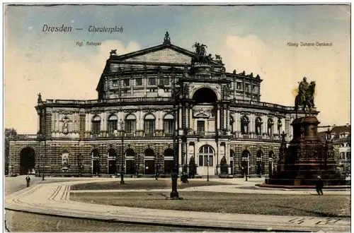
[[[84,31],[47,33],[42,32],[44,24]],[[124,31],[91,33],[89,25],[117,25]],[[264,102],[292,105],[292,90],[308,76],[318,83],[320,121],[350,122],[350,6],[7,6],[6,127],[35,133],[37,92],[44,99],[96,98],[109,49],[122,54],[161,44],[166,31],[173,44],[185,49],[192,50],[196,41],[207,44],[208,53],[222,56],[227,71],[260,73]],[[103,45],[76,47],[81,40]],[[333,47],[286,45],[316,41],[333,42]],[[69,85],[73,88],[65,88]],[[28,101],[11,92],[15,89]],[[340,106],[328,106],[338,102]],[[32,117],[15,117],[19,107]]]

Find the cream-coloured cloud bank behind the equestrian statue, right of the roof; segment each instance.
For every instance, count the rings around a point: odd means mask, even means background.
[[[350,47],[346,38],[333,47],[268,45],[255,35],[227,36],[222,54],[228,71],[260,74],[261,101],[294,106],[292,90],[302,77],[316,81],[315,104],[323,124],[350,122]]]

